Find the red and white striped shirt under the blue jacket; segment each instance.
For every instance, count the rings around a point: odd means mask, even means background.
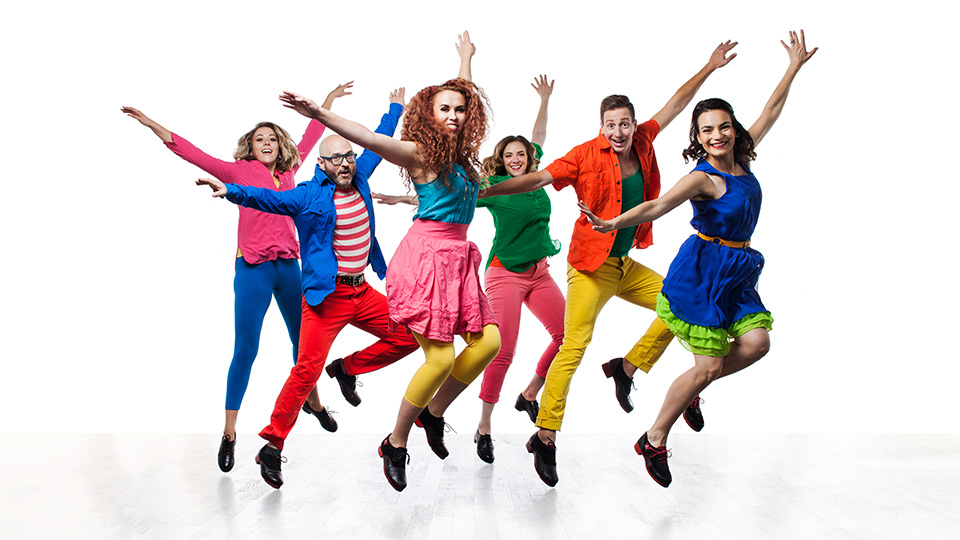
[[[337,257],[337,274],[356,276],[363,274],[370,258],[370,217],[367,205],[360,192],[333,192],[337,206],[337,225],[333,230],[333,253]]]

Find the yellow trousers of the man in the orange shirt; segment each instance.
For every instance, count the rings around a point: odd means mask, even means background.
[[[567,393],[573,373],[593,339],[593,327],[600,310],[616,296],[631,304],[656,309],[660,274],[630,257],[608,257],[593,272],[580,272],[567,265],[567,307],[564,315],[563,345],[550,364],[543,386],[537,427],[558,431],[563,423]],[[623,321],[629,328],[632,321]],[[644,372],[650,371],[673,339],[673,334],[658,317],[624,358]]]

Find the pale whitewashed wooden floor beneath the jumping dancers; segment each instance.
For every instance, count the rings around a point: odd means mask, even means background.
[[[409,487],[383,478],[382,435],[296,434],[286,484],[259,476],[255,435],[216,466],[213,435],[0,436],[0,538],[653,538],[960,537],[960,435],[672,437],[669,489],[627,435],[565,435],[560,483],[495,439],[482,463],[470,435],[437,459],[414,430]]]

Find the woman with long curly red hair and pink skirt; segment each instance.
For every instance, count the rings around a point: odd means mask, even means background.
[[[393,322],[413,333],[426,362],[410,381],[396,426],[380,444],[383,471],[397,491],[407,485],[407,437],[413,424],[441,459],[443,413],[487,367],[500,349],[500,332],[480,288],[480,250],[467,240],[481,181],[477,169],[486,136],[483,92],[470,82],[476,48],[460,36],[459,77],[424,88],[410,100],[400,140],[371,132],[291,92],[287,107],[316,119],[351,142],[404,170],[419,198],[407,236],[387,266],[387,303]],[[457,355],[453,336],[467,347]]]

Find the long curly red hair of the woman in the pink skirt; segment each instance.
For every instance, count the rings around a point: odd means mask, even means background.
[[[451,135],[433,116],[433,99],[444,90],[459,92],[466,102],[466,119],[460,130]],[[407,105],[400,139],[417,143],[423,169],[442,178],[456,163],[467,171],[470,180],[480,183],[480,143],[487,136],[487,96],[466,79],[451,79],[440,86],[428,86],[417,92]],[[410,172],[406,171],[410,180]]]

